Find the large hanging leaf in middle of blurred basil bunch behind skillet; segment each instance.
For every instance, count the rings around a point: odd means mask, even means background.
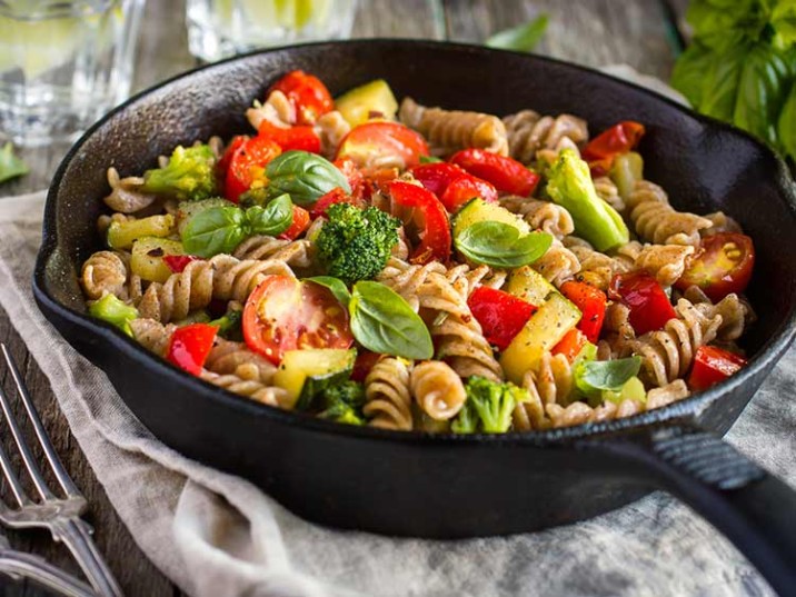
[[[757,43],[744,60],[733,121],[736,126],[779,147],[777,118],[787,99],[789,66],[782,52]]]

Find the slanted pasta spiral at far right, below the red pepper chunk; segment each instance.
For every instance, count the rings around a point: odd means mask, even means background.
[[[679,299],[676,319],[663,330],[650,331],[628,342],[630,352],[641,357],[639,377],[649,386],[663,387],[686,375],[696,350],[716,338],[722,316],[703,315],[690,301]]]

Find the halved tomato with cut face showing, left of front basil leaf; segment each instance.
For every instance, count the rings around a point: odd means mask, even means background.
[[[290,276],[266,276],[243,307],[243,339],[279,365],[286,350],[348,348],[348,310],[322,286]]]

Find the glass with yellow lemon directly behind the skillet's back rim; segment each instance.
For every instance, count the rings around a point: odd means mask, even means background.
[[[188,44],[206,62],[350,34],[357,0],[187,0]]]

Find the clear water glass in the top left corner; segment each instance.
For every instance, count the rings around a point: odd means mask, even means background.
[[[0,137],[76,139],[123,101],[145,0],[0,0]]]

